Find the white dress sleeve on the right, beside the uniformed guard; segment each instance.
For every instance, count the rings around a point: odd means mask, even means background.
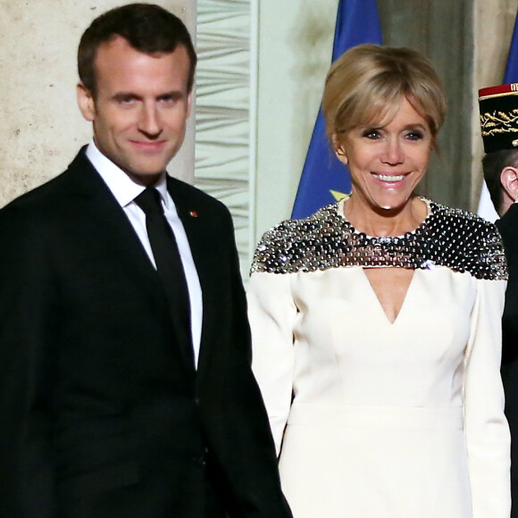
[[[465,355],[464,433],[473,518],[509,518],[510,434],[500,378],[505,280],[476,280]]]

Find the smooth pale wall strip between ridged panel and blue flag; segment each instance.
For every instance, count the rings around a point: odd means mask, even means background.
[[[289,217],[330,67],[338,0],[261,0],[255,236]]]

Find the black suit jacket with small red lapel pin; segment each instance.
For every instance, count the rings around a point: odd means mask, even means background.
[[[159,278],[81,150],[0,211],[0,517],[288,516],[250,368],[230,214],[168,188],[203,292],[197,372]],[[208,452],[208,453],[207,453]]]

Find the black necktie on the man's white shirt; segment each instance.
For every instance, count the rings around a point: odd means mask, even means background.
[[[180,349],[188,364],[194,366],[187,280],[174,233],[163,214],[160,194],[155,188],[148,187],[134,201],[146,213],[147,237],[169,301]]]

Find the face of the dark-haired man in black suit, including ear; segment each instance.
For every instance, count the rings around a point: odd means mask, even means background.
[[[79,84],[81,113],[94,124],[96,146],[142,185],[155,183],[183,142],[190,111],[184,46],[143,54],[116,37],[99,46],[96,98]]]

